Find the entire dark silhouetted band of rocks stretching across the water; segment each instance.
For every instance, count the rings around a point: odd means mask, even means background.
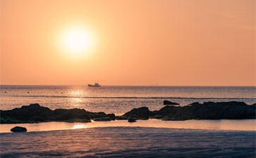
[[[255,119],[256,104],[243,102],[205,102],[181,106],[164,106],[150,111],[148,107],[134,108],[122,116],[104,112],[88,112],[84,109],[56,109],[30,104],[13,110],[1,110],[1,124],[24,124],[48,121],[90,122],[112,121],[115,119],[162,119],[181,121],[188,119]]]

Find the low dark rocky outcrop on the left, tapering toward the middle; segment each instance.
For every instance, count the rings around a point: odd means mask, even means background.
[[[36,123],[46,121],[67,121],[67,122],[89,122],[91,119],[97,121],[115,120],[115,114],[104,112],[87,112],[84,109],[56,109],[50,110],[39,104],[31,104],[13,110],[1,110],[1,124]],[[104,118],[104,119],[100,119]]]

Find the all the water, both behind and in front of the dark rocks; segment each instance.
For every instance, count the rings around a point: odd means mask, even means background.
[[[39,103],[124,114],[135,107],[240,101],[256,103],[255,86],[0,86],[1,110]],[[11,133],[23,126],[26,133]],[[0,124],[0,157],[255,157],[255,119],[159,119]]]

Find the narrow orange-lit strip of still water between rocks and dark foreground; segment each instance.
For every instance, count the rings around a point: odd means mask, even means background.
[[[90,123],[45,122],[39,124],[1,124],[0,132],[11,132],[14,126],[23,126],[28,131],[54,131],[63,129],[87,129],[93,127],[156,127],[169,129],[205,129],[205,130],[232,130],[232,131],[256,131],[256,122],[252,119],[243,120],[186,120],[186,121],[162,121],[159,119],[138,120],[129,123],[127,120],[116,121],[92,121]]]

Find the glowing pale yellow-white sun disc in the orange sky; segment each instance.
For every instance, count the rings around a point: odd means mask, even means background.
[[[68,27],[61,32],[59,41],[63,52],[78,56],[92,50],[94,38],[92,32],[84,27]]]

